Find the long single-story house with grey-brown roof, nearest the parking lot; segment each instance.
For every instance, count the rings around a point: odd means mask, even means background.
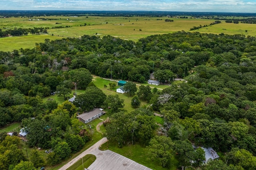
[[[88,123],[105,113],[106,112],[103,109],[94,108],[92,109],[92,111],[84,112],[81,115],[78,115],[76,117],[79,119],[79,121],[82,121],[83,123]]]

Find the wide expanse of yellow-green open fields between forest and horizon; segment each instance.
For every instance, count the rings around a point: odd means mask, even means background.
[[[42,18],[48,20],[42,20]],[[51,20],[49,20],[51,19]],[[165,19],[174,20],[165,22]],[[31,20],[31,21],[30,21]],[[63,37],[81,37],[82,35],[111,35],[121,39],[138,41],[150,35],[166,34],[176,31],[190,31],[190,28],[200,25],[210,25],[215,20],[199,18],[168,18],[168,17],[99,17],[99,16],[40,16],[38,18],[0,18],[0,29],[49,27],[48,34],[0,38],[0,51],[12,51],[20,48],[33,48],[35,43],[44,39],[62,39]],[[200,33],[244,34],[255,36],[256,24],[222,23],[203,27],[193,31]],[[58,24],[56,24],[58,23]],[[86,23],[86,26],[84,26]],[[62,28],[52,28],[52,27]],[[141,30],[141,31],[140,31]],[[245,30],[248,30],[245,32]],[[97,33],[97,34],[96,34]],[[62,37],[63,36],[63,37]]]

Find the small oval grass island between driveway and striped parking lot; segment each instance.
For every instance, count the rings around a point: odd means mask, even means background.
[[[83,160],[82,159],[78,160],[76,163],[70,166],[67,170],[83,170],[83,167],[88,168],[95,160],[96,160],[96,156],[94,156],[93,154],[87,154],[83,157]],[[84,162],[84,165],[82,165],[82,162]]]

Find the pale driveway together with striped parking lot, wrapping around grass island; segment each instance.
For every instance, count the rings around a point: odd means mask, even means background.
[[[94,154],[96,160],[88,167],[88,170],[151,170],[144,165],[138,164],[129,158],[126,158],[111,150],[99,150],[100,145],[107,141],[106,138],[102,138],[95,143],[92,147],[82,152],[76,158],[72,159],[66,165],[62,166],[59,170],[66,170],[72,164],[77,162],[86,154]]]

